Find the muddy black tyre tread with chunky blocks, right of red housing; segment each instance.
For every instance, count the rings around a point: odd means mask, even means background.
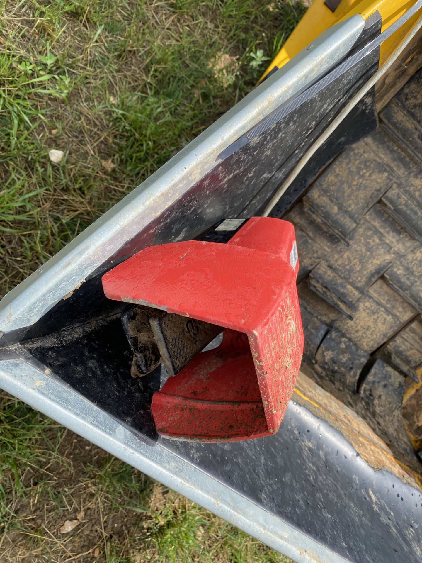
[[[401,404],[405,378],[422,381],[422,70],[379,117],[283,218],[307,372],[414,464]]]

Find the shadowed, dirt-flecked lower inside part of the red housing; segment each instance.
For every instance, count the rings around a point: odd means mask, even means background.
[[[195,356],[152,397],[160,434],[220,441],[270,434],[246,334],[226,329],[220,346]]]

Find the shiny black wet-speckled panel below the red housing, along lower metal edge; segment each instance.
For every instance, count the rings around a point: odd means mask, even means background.
[[[339,432],[293,401],[275,436],[160,443],[347,561],[421,561],[422,493],[373,471]]]

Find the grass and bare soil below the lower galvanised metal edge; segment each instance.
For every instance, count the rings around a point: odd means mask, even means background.
[[[2,562],[289,562],[6,394],[0,427]]]

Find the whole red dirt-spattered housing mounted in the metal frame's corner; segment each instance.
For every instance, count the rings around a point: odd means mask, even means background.
[[[303,351],[298,267],[293,225],[253,217],[226,244],[149,247],[103,276],[110,299],[226,329],[154,394],[160,434],[222,441],[279,429]]]

